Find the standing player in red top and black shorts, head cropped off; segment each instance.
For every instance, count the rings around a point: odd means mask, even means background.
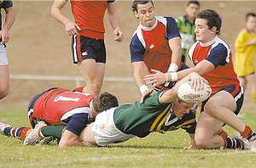
[[[79,65],[79,70],[86,82],[83,92],[98,95],[102,89],[105,74],[106,48],[104,43],[104,14],[108,10],[108,19],[113,27],[115,41],[124,38],[119,28],[119,18],[114,0],[76,1],[71,0],[74,22],[61,13],[61,8],[67,0],[55,0],[51,8],[53,17],[65,25],[68,36],[72,38],[73,63]]]

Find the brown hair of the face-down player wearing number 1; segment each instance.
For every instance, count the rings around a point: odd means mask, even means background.
[[[96,110],[96,112],[100,113],[104,110],[118,107],[119,102],[118,99],[113,96],[113,94],[110,94],[109,92],[102,92],[101,94],[93,98],[92,106]]]

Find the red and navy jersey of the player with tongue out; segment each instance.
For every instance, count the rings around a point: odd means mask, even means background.
[[[151,74],[151,69],[167,72],[172,50],[168,41],[180,36],[177,23],[172,17],[155,17],[152,27],[139,25],[130,43],[131,62],[144,61]]]

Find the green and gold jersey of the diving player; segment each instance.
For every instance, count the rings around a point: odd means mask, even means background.
[[[172,115],[172,104],[163,104],[160,97],[165,91],[156,92],[145,99],[143,104],[126,104],[114,110],[113,122],[119,131],[137,137],[146,137],[150,132],[166,132],[186,129],[195,133],[195,115],[184,115],[177,119]]]

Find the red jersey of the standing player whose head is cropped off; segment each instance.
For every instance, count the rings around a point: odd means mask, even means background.
[[[91,38],[103,39],[104,14],[108,8],[108,3],[114,1],[97,0],[71,0],[71,8],[75,23],[79,25],[81,31],[79,35],[88,36]]]

